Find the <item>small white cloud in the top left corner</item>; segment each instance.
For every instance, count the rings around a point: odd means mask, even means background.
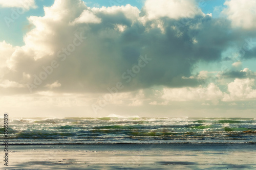
[[[2,8],[23,8],[29,10],[30,8],[36,8],[34,0],[0,0],[0,7]]]

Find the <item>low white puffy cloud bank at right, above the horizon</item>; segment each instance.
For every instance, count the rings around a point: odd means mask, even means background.
[[[163,88],[161,99],[166,101],[211,101],[232,102],[256,99],[254,79],[235,79],[227,84],[227,92],[221,91],[218,86],[210,83],[207,87]],[[165,101],[165,102],[166,102]],[[163,103],[163,102],[162,102]],[[152,105],[160,105],[152,102]],[[205,104],[203,104],[205,105]]]

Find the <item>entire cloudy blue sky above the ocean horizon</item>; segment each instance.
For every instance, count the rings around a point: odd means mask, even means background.
[[[0,0],[11,117],[255,117],[254,0]]]

